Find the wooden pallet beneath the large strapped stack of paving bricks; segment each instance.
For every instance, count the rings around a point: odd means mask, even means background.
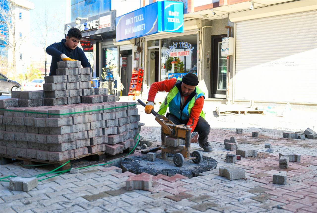
[[[16,159],[16,160],[23,160],[23,165],[26,166],[31,166],[31,165],[38,165],[39,163],[42,164],[52,164],[55,167],[59,167],[63,164],[65,164],[68,160],[79,160],[85,158],[86,160],[89,161],[102,161],[106,159],[106,154],[105,152],[97,152],[97,153],[89,153],[81,156],[77,156],[74,158],[66,159],[66,160],[61,160],[61,161],[55,161],[55,160],[41,160],[41,159],[34,159],[34,158],[25,158],[25,157],[16,157],[16,156],[10,156],[7,154],[0,154],[0,161],[3,164],[8,164],[13,162],[11,159]],[[67,170],[71,168],[71,164],[68,163],[64,166],[62,166],[59,170]]]

